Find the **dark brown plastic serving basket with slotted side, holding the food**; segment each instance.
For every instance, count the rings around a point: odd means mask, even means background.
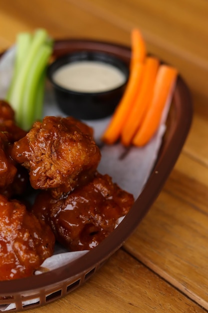
[[[129,63],[129,47],[92,40],[57,40],[54,56],[77,50],[97,50],[112,53]],[[193,116],[190,91],[181,76],[178,77],[173,103],[168,116],[167,130],[154,169],[129,213],[118,227],[97,247],[69,265],[37,276],[0,281],[0,304],[13,303],[12,311],[25,310],[47,304],[65,296],[83,284],[138,226],[169,176],[188,135]],[[34,303],[28,304],[28,300]]]

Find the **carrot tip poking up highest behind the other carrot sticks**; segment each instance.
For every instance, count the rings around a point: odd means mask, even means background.
[[[133,28],[131,31],[131,63],[130,69],[135,62],[144,62],[146,57],[146,44],[139,29]]]

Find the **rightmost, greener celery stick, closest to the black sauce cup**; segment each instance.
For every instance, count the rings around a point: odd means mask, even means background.
[[[38,84],[40,83],[41,74],[45,69],[51,52],[52,48],[49,45],[40,46],[33,58],[32,64],[30,65],[27,79],[24,84],[25,90],[21,103],[21,111],[19,113],[19,124],[25,130],[28,130],[34,122],[36,92]]]

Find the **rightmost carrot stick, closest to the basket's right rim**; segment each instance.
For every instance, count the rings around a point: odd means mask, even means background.
[[[150,108],[141,127],[133,138],[133,144],[143,146],[155,134],[161,120],[163,108],[173,94],[177,74],[176,68],[160,65]]]

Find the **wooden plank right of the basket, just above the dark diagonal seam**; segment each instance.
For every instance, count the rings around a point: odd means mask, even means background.
[[[181,155],[125,249],[208,309],[207,177],[208,168]]]

